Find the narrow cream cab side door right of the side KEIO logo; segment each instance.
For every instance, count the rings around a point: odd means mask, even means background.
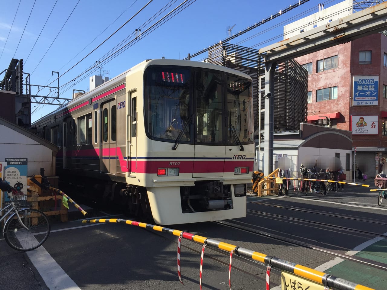
[[[137,172],[137,91],[129,92],[130,104],[128,118],[128,176],[136,176]]]

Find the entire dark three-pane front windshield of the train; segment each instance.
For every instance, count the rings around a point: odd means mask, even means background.
[[[250,80],[201,68],[150,66],[145,73],[149,138],[180,143],[253,143]]]

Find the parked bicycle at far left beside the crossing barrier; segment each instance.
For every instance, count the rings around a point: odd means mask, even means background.
[[[47,215],[31,208],[26,195],[12,189],[4,191],[10,199],[0,213],[0,223],[4,220],[3,236],[7,244],[17,251],[30,251],[40,247],[50,234],[51,225]],[[8,217],[8,218],[7,218]]]

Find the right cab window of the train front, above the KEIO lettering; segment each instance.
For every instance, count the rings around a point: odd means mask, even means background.
[[[227,76],[227,142],[254,142],[251,111],[252,87],[248,80]]]

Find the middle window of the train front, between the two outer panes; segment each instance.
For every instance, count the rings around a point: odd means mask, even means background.
[[[196,123],[199,143],[223,142],[223,74],[195,72]]]

